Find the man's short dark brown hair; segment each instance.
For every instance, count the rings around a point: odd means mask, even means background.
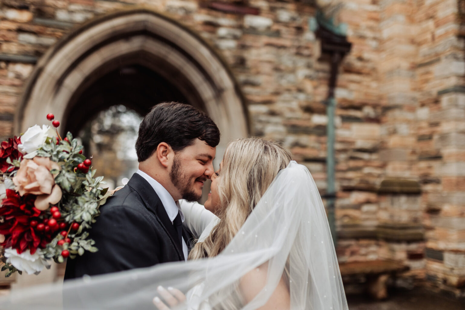
[[[136,141],[139,162],[152,156],[161,142],[174,152],[193,145],[195,139],[215,147],[219,143],[219,129],[213,120],[194,108],[179,102],[163,102],[152,108],[139,126]]]

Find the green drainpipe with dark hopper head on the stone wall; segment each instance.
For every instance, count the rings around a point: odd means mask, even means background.
[[[331,75],[328,81],[328,95],[325,100],[326,116],[328,123],[326,125],[326,208],[328,212],[328,222],[331,229],[332,241],[334,246],[337,245],[336,237],[336,223],[334,216],[335,200],[336,200],[336,186],[335,186],[335,156],[334,144],[336,141],[336,133],[334,126],[334,111],[336,109],[336,99],[334,90],[336,88],[338,69],[341,60],[350,52],[352,43],[347,41],[345,36],[346,26],[340,24],[334,25],[332,18],[326,18],[324,13],[320,10],[317,11],[315,18],[310,19],[309,26],[315,32],[317,38],[321,41],[321,55],[329,56],[331,63]]]

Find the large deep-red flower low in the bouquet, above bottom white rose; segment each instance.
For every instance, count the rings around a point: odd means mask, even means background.
[[[0,243],[4,248],[12,247],[19,254],[29,249],[34,254],[37,248],[45,247],[51,236],[43,231],[35,231],[31,220],[37,220],[41,211],[34,207],[35,195],[21,197],[16,191],[7,189],[7,198],[3,199],[0,208],[0,234],[5,240]]]

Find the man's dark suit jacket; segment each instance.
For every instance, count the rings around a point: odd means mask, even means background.
[[[68,259],[65,280],[184,260],[165,207],[137,173],[100,206],[89,233],[99,251]],[[190,249],[193,238],[185,228],[183,237]]]

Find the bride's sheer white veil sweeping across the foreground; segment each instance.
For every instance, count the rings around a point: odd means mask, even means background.
[[[144,246],[144,244],[140,244]],[[246,278],[262,277],[248,284]],[[284,279],[291,309],[346,310],[326,212],[307,168],[279,172],[246,223],[217,257],[84,277],[0,298],[1,309],[156,309],[157,287],[183,291],[175,309],[257,309]],[[246,302],[245,290],[258,292]]]

